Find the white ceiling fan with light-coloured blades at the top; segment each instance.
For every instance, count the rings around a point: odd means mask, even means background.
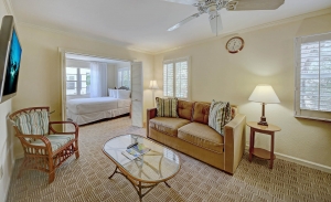
[[[173,31],[186,22],[200,17],[203,13],[210,14],[210,24],[213,33],[218,33],[222,29],[221,14],[217,12],[223,8],[227,11],[246,11],[246,10],[276,10],[285,0],[164,0],[181,4],[190,4],[197,8],[197,13],[180,21],[168,31]]]

